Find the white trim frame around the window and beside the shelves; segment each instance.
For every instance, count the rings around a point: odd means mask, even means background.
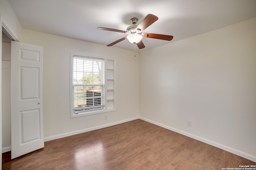
[[[88,58],[88,59],[95,59],[95,60],[103,60],[104,61],[104,88],[103,88],[103,108],[102,109],[92,109],[88,111],[81,111],[80,113],[75,113],[74,112],[74,75],[73,75],[73,68],[74,68],[74,57],[78,58]],[[70,116],[71,117],[80,117],[80,116],[86,116],[86,115],[92,115],[92,114],[98,114],[98,113],[104,113],[108,111],[114,111],[114,108],[108,109],[108,106],[106,106],[107,103],[107,88],[105,87],[107,84],[107,75],[106,75],[106,70],[107,70],[107,61],[111,60],[114,61],[114,59],[108,59],[106,57],[100,57],[100,56],[93,56],[93,55],[83,55],[83,54],[78,54],[78,53],[70,53]]]

